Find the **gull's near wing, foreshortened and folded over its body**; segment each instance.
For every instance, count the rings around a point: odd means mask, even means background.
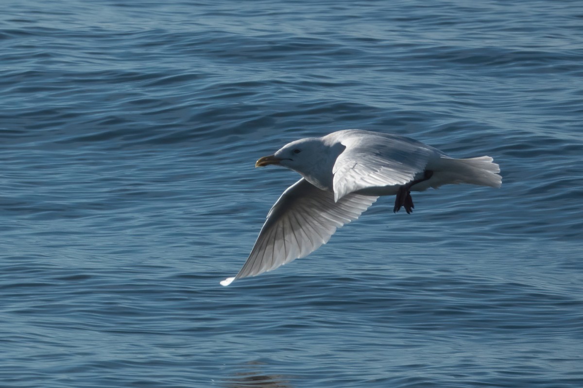
[[[423,172],[437,149],[419,141],[368,131],[347,131],[332,170],[335,200],[369,187],[406,184]]]

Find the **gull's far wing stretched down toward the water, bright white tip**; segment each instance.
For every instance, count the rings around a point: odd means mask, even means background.
[[[300,179],[283,192],[267,215],[243,268],[221,282],[255,276],[305,257],[328,242],[338,227],[359,218],[378,197],[347,194],[335,202],[332,191]]]

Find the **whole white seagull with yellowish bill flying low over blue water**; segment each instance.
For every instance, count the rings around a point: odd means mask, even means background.
[[[395,195],[395,213],[401,208],[412,213],[411,191],[502,183],[500,166],[490,156],[455,159],[409,137],[358,129],[292,141],[255,163],[268,165],[302,177],[275,202],[247,261],[223,286],[307,256],[381,195]]]

